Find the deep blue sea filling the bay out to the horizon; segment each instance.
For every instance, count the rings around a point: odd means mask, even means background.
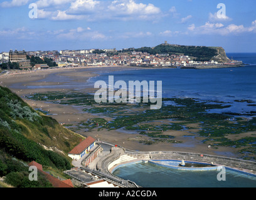
[[[230,108],[222,112],[247,114],[256,111],[256,53],[227,53],[228,58],[248,64],[240,68],[219,69],[134,69],[126,71],[104,72],[90,79],[93,84],[102,80],[108,83],[109,76],[115,81],[162,81],[162,96],[167,98],[195,98],[198,101],[215,101]],[[247,100],[241,102],[241,100]],[[251,105],[251,106],[248,106]],[[211,110],[209,112],[221,112]]]

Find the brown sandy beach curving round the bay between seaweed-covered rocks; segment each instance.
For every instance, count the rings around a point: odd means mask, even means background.
[[[82,69],[86,69],[83,70]],[[59,123],[73,124],[74,126],[81,123],[81,121],[87,121],[90,118],[98,117],[95,114],[85,113],[82,111],[82,106],[69,106],[65,104],[53,104],[48,101],[35,101],[25,98],[29,94],[34,93],[46,93],[49,91],[70,91],[68,88],[61,88],[64,86],[64,82],[56,83],[56,80],[48,80],[53,74],[57,76],[65,76],[72,78],[75,81],[81,81],[85,83],[83,88],[84,93],[93,93],[95,89],[90,85],[87,86],[87,81],[93,76],[98,76],[97,73],[100,71],[116,71],[126,70],[124,66],[112,66],[112,67],[83,67],[83,68],[63,68],[63,69],[46,69],[40,71],[25,71],[19,73],[9,73],[0,76],[0,85],[8,87],[14,93],[18,94],[21,98],[26,101],[32,108],[41,109],[51,114],[52,118],[55,118]],[[129,69],[145,69],[145,68],[129,68]],[[47,87],[56,86],[59,87]],[[28,86],[40,86],[40,88],[28,88]],[[166,134],[175,136],[175,139],[182,141],[182,143],[157,143],[146,145],[139,143],[139,141],[147,140],[148,136],[144,136],[136,133],[125,133],[119,130],[100,130],[100,131],[85,131],[79,129],[76,131],[78,134],[83,136],[92,136],[93,138],[107,141],[113,144],[123,146],[126,149],[138,150],[138,151],[181,151],[181,152],[192,152],[201,154],[213,154],[218,156],[228,156],[233,158],[239,158],[237,153],[238,149],[228,147],[218,147],[218,149],[208,148],[208,144],[202,143],[201,141],[205,138],[195,136],[194,133],[198,131],[196,124],[195,129],[182,130],[182,131],[170,131]],[[67,127],[68,128],[68,127]],[[186,137],[184,137],[186,136]]]

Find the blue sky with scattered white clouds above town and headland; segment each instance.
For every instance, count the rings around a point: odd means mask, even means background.
[[[5,0],[0,52],[153,47],[164,41],[256,52],[255,8],[255,0]]]

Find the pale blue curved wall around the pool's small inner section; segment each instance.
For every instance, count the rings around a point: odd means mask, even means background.
[[[148,162],[152,163],[152,164],[159,165],[159,166],[163,166],[166,168],[172,168],[172,169],[178,169],[178,170],[189,170],[189,171],[216,170],[220,167],[220,166],[215,166],[215,165],[213,165],[211,167],[206,167],[209,165],[208,163],[199,163],[199,162],[191,162],[191,161],[185,161],[185,163],[201,164],[201,165],[205,165],[205,167],[201,167],[201,168],[182,167],[182,166],[179,166],[179,163],[181,163],[181,161],[177,161],[177,160],[149,160]]]

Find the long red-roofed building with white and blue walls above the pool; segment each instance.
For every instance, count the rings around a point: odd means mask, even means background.
[[[68,156],[72,159],[80,159],[83,155],[90,152],[90,149],[95,146],[96,140],[91,136],[88,136],[85,140],[81,143],[77,144],[75,148],[73,148],[69,153]]]

